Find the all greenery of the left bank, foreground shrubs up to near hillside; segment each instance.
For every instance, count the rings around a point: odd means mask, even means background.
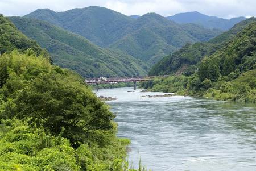
[[[0,170],[135,170],[130,141],[82,77],[2,15],[0,28]]]

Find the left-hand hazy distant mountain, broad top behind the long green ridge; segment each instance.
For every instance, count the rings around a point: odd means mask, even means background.
[[[117,40],[122,36],[120,33],[126,25],[135,20],[130,16],[97,6],[65,12],[38,9],[25,17],[45,20],[84,36],[101,47],[106,47]]]

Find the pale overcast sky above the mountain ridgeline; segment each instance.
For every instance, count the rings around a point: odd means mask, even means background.
[[[156,12],[170,16],[199,11],[221,18],[256,16],[256,0],[0,0],[0,13],[5,16],[23,16],[36,9],[66,11],[88,6],[107,7],[126,15]]]

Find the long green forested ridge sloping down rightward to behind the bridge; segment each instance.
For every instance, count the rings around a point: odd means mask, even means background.
[[[138,76],[145,75],[147,66],[123,52],[97,47],[82,36],[37,19],[11,17],[23,34],[46,48],[53,62],[75,70],[81,76]]]

